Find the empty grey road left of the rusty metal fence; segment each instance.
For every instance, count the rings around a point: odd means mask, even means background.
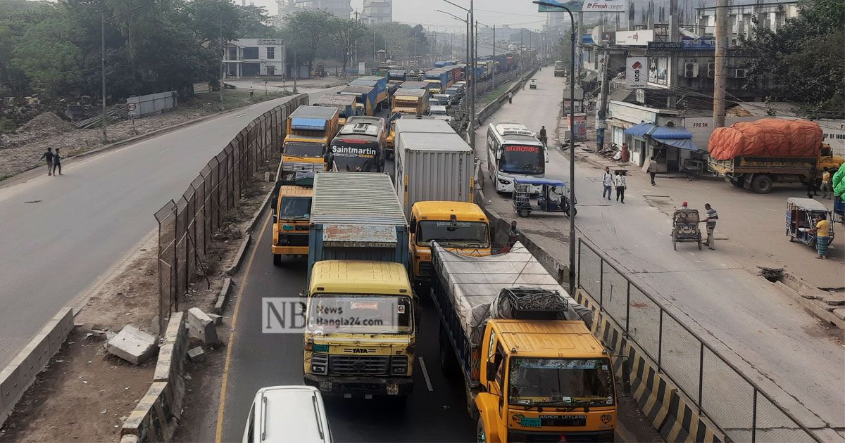
[[[321,92],[311,94],[315,100]],[[0,367],[156,227],[211,156],[285,99],[251,105],[0,186]]]

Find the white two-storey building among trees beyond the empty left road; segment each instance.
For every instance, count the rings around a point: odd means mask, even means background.
[[[223,52],[225,77],[284,75],[285,46],[281,39],[237,39]]]

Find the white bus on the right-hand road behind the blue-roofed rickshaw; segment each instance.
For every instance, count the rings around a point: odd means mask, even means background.
[[[534,132],[519,123],[490,123],[487,168],[496,192],[514,192],[514,180],[545,176],[548,150]],[[535,190],[535,193],[539,189]]]

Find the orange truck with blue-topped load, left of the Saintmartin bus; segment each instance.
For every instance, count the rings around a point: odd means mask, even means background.
[[[287,116],[282,170],[324,170],[325,151],[338,127],[336,107],[302,105]]]

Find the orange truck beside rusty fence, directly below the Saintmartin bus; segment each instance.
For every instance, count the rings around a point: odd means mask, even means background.
[[[308,256],[313,172],[276,173],[270,211],[273,214],[273,264],[281,266],[281,256]]]

